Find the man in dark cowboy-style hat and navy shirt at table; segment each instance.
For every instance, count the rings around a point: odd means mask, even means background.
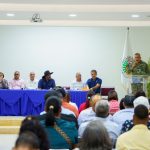
[[[49,70],[44,72],[44,76],[38,82],[38,89],[50,89],[55,87],[55,80],[51,78],[51,74]]]

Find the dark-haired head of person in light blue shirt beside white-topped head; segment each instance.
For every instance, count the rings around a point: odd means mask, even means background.
[[[133,108],[134,99],[135,99],[135,96],[126,95],[123,100],[125,108]]]

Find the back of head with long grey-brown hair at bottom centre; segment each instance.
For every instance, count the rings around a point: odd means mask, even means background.
[[[80,150],[111,150],[112,144],[106,128],[100,121],[90,122],[83,132]]]

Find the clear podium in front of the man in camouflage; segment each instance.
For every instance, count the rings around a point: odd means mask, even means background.
[[[150,76],[149,75],[131,75],[131,90],[135,94],[138,91],[143,90],[149,95],[150,89]]]

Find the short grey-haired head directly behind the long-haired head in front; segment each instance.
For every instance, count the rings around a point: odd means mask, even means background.
[[[109,103],[107,100],[98,101],[95,105],[95,113],[97,117],[105,118],[109,115]]]

